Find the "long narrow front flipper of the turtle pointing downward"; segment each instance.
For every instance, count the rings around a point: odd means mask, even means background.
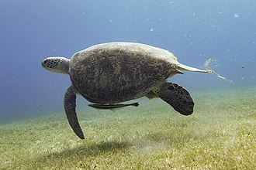
[[[67,120],[68,123],[71,125],[74,133],[77,134],[79,138],[85,139],[84,134],[81,131],[80,125],[78,123],[78,117],[75,111],[75,103],[76,95],[74,93],[73,87],[69,87],[64,96],[64,108],[67,115]]]

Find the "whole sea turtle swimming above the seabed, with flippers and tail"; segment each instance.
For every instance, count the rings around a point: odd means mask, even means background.
[[[64,110],[71,128],[81,139],[84,134],[75,110],[76,94],[98,107],[157,96],[179,113],[189,115],[194,107],[189,92],[167,79],[182,70],[208,72],[178,63],[167,50],[136,42],[102,43],[74,53],[71,59],[48,57],[42,66],[70,76],[72,84],[64,95]]]

